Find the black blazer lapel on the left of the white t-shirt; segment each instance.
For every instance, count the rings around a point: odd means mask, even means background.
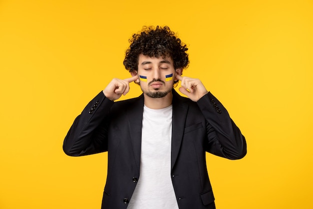
[[[131,133],[129,137],[138,172],[140,168],[143,102],[143,95],[141,94],[127,109],[128,127],[129,133]]]

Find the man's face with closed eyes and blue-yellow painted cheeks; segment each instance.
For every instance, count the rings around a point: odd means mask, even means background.
[[[175,75],[181,70],[174,69],[170,57],[149,57],[139,55],[137,75],[143,94],[151,98],[165,97],[173,88]]]

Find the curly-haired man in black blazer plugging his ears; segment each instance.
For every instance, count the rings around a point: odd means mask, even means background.
[[[126,51],[131,78],[113,79],[69,129],[70,156],[108,151],[102,209],[215,208],[205,151],[246,154],[245,139],[199,79],[182,77],[187,48],[168,27],[143,28]],[[114,102],[140,85],[138,98]],[[173,85],[181,82],[179,96]]]

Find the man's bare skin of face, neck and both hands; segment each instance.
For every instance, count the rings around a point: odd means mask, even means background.
[[[165,81],[165,75],[173,74],[173,79]],[[171,105],[174,81],[181,81],[179,91],[196,102],[207,94],[207,90],[199,79],[180,76],[182,69],[174,69],[170,57],[148,57],[139,55],[138,71],[131,72],[131,78],[114,78],[103,90],[106,98],[114,101],[129,92],[129,83],[139,82],[144,96],[144,105],[151,109],[161,109]],[[147,81],[140,81],[139,75],[146,76]],[[155,98],[155,96],[161,96]],[[156,96],[156,97],[157,97]]]

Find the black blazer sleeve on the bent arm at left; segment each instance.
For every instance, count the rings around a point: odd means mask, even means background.
[[[102,91],[87,104],[65,136],[65,154],[82,156],[107,151],[109,110],[113,104]]]

